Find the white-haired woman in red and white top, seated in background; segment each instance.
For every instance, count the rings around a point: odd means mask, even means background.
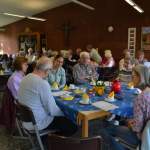
[[[112,57],[111,50],[105,50],[105,57],[102,59],[102,67],[114,67],[115,61]]]

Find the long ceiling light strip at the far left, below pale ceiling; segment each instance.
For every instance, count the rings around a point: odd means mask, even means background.
[[[31,20],[46,21],[46,19],[38,18],[38,17],[23,16],[23,15],[12,14],[12,13],[1,13],[1,14],[6,15],[6,16],[18,17],[18,18],[28,18]]]

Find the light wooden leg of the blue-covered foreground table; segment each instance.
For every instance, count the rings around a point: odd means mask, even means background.
[[[88,131],[89,131],[89,122],[88,119],[82,120],[82,137],[88,137]]]

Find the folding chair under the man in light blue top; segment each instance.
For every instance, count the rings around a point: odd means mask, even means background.
[[[35,147],[35,144],[32,138],[32,136],[35,135],[37,138],[38,144],[40,146],[40,149],[44,150],[41,137],[44,135],[48,135],[50,133],[55,133],[56,131],[47,130],[47,129],[39,131],[32,110],[29,107],[23,104],[20,104],[18,101],[16,103],[16,117],[18,119],[19,124],[21,125],[21,129],[23,130],[23,133],[27,135],[29,141],[31,142],[32,147]],[[24,122],[32,123],[34,130],[31,131],[31,130],[27,130],[26,128],[24,128],[23,126]]]

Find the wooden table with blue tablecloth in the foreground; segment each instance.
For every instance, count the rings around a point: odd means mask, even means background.
[[[110,114],[115,114],[124,118],[132,118],[133,116],[133,103],[136,98],[135,89],[128,89],[127,85],[122,84],[121,93],[116,94],[121,96],[121,99],[116,99],[114,102],[110,102],[118,108],[110,111],[105,111],[99,109],[92,105],[92,103],[103,101],[110,92],[110,87],[106,87],[106,93],[103,96],[93,95],[90,96],[90,104],[82,105],[80,104],[81,97],[74,95],[74,99],[71,101],[62,100],[60,96],[55,96],[57,105],[63,111],[64,115],[72,120],[74,123],[81,125],[82,127],[82,137],[88,137],[89,121],[93,119],[98,119],[106,117]],[[92,86],[87,86],[87,89],[92,88]]]

